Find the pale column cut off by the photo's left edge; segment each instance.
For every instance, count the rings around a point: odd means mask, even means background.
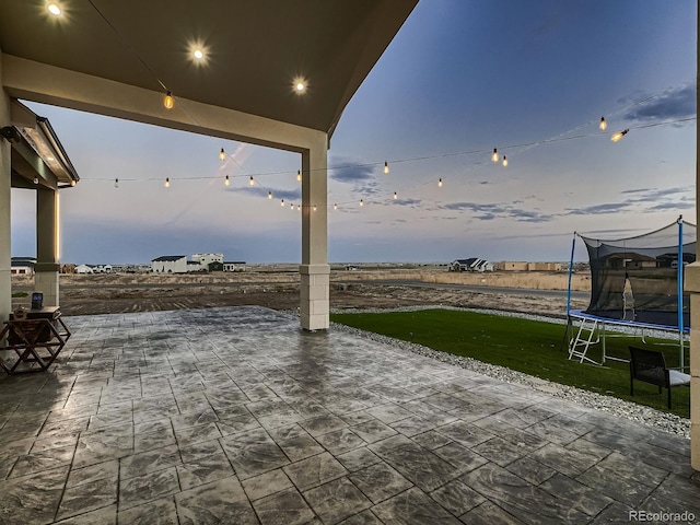
[[[2,51],[0,51],[0,58]],[[10,125],[10,97],[2,88],[2,60],[0,60],[0,128]],[[11,243],[10,243],[10,142],[0,138],[0,326],[12,311]]]

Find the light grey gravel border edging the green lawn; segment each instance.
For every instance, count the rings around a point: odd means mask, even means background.
[[[527,318],[527,319],[540,320],[540,322],[547,322],[547,323],[557,323],[561,325],[565,324],[567,322],[563,318],[556,318],[556,317],[549,317],[544,315],[534,315],[534,314],[525,314],[525,313],[516,313],[516,312],[501,312],[498,310],[487,310],[487,308],[458,308],[458,307],[442,306],[442,305],[406,306],[400,308],[386,308],[386,310],[384,308],[347,308],[347,310],[336,310],[336,311],[332,311],[332,313],[370,314],[370,313],[387,313],[387,312],[416,312],[421,310],[433,310],[433,308],[479,312],[479,313],[487,313],[487,314],[493,314],[493,315],[503,315],[506,317],[521,317],[521,318]],[[656,428],[666,432],[670,432],[674,434],[682,435],[685,438],[690,438],[690,420],[686,418],[681,418],[679,416],[675,416],[673,413],[662,412],[660,410],[655,410],[650,407],[638,405],[635,402],[626,401],[623,399],[618,399],[611,396],[604,396],[602,394],[583,390],[581,388],[576,388],[573,386],[560,385],[558,383],[553,383],[548,380],[541,380],[539,377],[524,374],[522,372],[510,370],[505,366],[488,364],[471,358],[464,358],[464,357],[454,355],[447,352],[441,352],[441,351],[424,347],[422,345],[418,345],[409,341],[402,341],[400,339],[394,339],[392,337],[382,336],[380,334],[374,334],[372,331],[360,330],[358,328],[352,328],[346,325],[341,325],[339,323],[330,323],[330,326],[334,330],[345,331],[345,332],[352,334],[365,339],[371,339],[373,341],[377,341],[384,345],[389,345],[400,350],[410,351],[419,355],[424,355],[431,359],[435,359],[438,361],[442,361],[444,363],[462,366],[463,369],[466,369],[472,372],[478,372],[480,374],[487,375],[489,377],[493,377],[495,380],[527,386],[534,390],[544,392],[551,395],[552,397],[558,397],[561,399],[565,399],[568,401],[573,401],[587,408],[602,410],[604,412],[610,413],[616,417],[629,419],[631,421],[643,423],[649,427],[653,427],[653,428]],[[616,330],[617,328],[618,327],[616,326]],[[625,327],[620,327],[620,328],[625,328]],[[626,330],[620,330],[620,331],[626,331]],[[652,335],[649,331],[648,334]],[[654,334],[654,337],[657,337],[657,336]]]

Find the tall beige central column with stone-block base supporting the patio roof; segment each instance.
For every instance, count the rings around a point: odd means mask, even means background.
[[[327,136],[302,153],[301,317],[305,330],[330,324]]]

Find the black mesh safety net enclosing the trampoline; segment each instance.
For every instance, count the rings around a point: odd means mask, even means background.
[[[696,230],[678,220],[634,237],[602,241],[579,235],[591,264],[591,304],[585,313],[688,328],[690,299],[682,294],[682,270],[696,260]]]

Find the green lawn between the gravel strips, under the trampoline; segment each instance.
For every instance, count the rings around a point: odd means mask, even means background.
[[[658,395],[657,387],[635,381],[634,397],[630,396],[627,363],[607,361],[598,366],[569,361],[562,348],[564,325],[452,310],[331,314],[330,319],[666,411],[666,390]],[[607,354],[629,358],[630,345],[664,351],[668,366],[678,363],[678,342],[669,340],[646,338],[644,343],[640,337],[608,337]],[[600,361],[599,345],[588,355]],[[676,387],[672,397],[672,412],[688,418],[690,388]]]

